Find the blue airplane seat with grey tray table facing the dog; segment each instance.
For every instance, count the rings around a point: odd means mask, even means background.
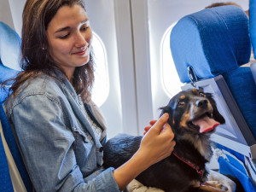
[[[256,85],[250,67],[242,66],[252,49],[248,24],[237,6],[203,9],[177,21],[170,45],[182,89],[212,93],[224,116],[212,136],[222,154],[219,172],[256,191]]]

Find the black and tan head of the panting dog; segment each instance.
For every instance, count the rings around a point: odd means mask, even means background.
[[[176,138],[183,134],[207,135],[219,124],[224,124],[223,116],[218,113],[212,94],[201,90],[183,90],[173,96],[162,113],[169,113],[168,123]]]

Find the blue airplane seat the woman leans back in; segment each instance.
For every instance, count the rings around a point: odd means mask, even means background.
[[[14,78],[20,71],[20,37],[9,26],[0,22],[0,83],[6,79]],[[9,92],[9,84],[1,85],[0,87],[0,101],[4,102]],[[32,191],[32,183],[26,172],[26,166],[22,160],[19,146],[15,142],[15,134],[13,133],[9,120],[3,111],[3,106],[0,105],[0,131],[3,148],[0,146],[1,159],[1,177],[11,177],[12,186],[6,185],[6,190],[2,188],[4,185],[0,184],[1,191]],[[4,153],[5,152],[5,153]],[[8,165],[5,160],[8,160]],[[6,172],[9,169],[9,172]],[[21,179],[20,179],[21,178]],[[2,180],[2,179],[0,179]],[[6,183],[9,184],[9,183]],[[5,187],[4,187],[5,188]],[[7,190],[9,189],[9,190]]]

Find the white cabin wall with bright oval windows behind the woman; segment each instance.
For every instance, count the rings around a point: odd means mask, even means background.
[[[162,84],[161,40],[181,17],[216,2],[222,1],[86,0],[92,29],[107,50],[110,90],[101,110],[107,119],[108,137],[119,132],[142,135],[149,120],[159,117],[158,108],[171,97]],[[248,0],[232,2],[248,9]],[[18,34],[25,3],[0,2],[0,20]]]

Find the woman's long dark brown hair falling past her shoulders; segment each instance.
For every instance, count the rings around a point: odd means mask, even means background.
[[[79,4],[85,10],[84,0],[26,0],[23,10],[23,26],[21,34],[21,68],[24,70],[15,78],[10,91],[16,92],[27,79],[36,78],[39,72],[53,76],[59,70],[49,55],[49,44],[46,35],[49,22],[61,6]],[[94,81],[94,61],[92,49],[90,61],[76,67],[73,74],[73,87],[83,100],[90,101],[90,89]],[[64,73],[64,72],[62,72]],[[65,80],[65,79],[59,79]]]

